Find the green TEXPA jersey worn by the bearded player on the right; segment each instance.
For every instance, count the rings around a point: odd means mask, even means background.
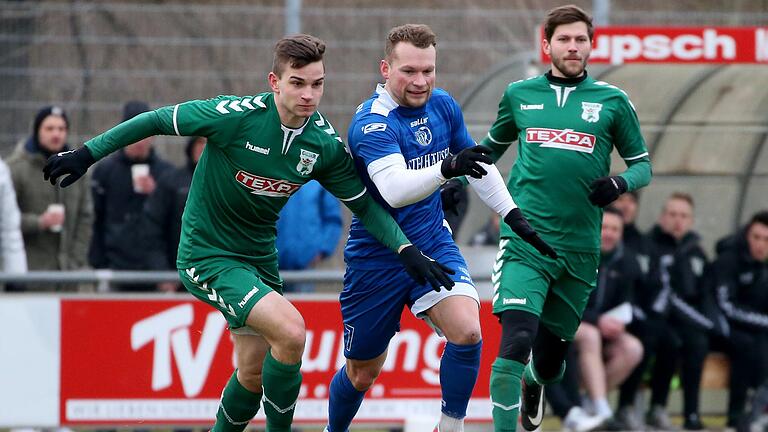
[[[541,237],[555,248],[600,250],[602,211],[589,202],[590,184],[609,174],[616,147],[628,165],[629,190],[650,182],[650,159],[626,93],[589,76],[550,74],[511,83],[483,140],[498,160],[518,141],[508,187]],[[504,224],[502,237],[512,236]]]

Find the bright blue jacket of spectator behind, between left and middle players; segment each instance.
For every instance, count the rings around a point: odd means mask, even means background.
[[[277,220],[280,270],[305,270],[333,255],[341,236],[339,201],[316,181],[305,184],[288,200]],[[285,292],[310,292],[310,283],[287,283]]]

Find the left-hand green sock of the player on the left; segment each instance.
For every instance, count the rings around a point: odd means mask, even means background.
[[[261,394],[254,393],[237,380],[237,369],[224,387],[211,432],[242,432],[259,412]]]

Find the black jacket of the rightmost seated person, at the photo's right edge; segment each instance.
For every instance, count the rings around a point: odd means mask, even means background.
[[[717,303],[734,329],[768,330],[768,263],[752,258],[746,232],[730,238],[731,247],[712,264]]]

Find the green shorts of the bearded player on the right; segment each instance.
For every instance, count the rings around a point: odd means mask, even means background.
[[[562,250],[558,254],[553,260],[517,236],[502,238],[493,266],[493,313],[530,312],[552,333],[570,341],[597,283],[600,254]]]

